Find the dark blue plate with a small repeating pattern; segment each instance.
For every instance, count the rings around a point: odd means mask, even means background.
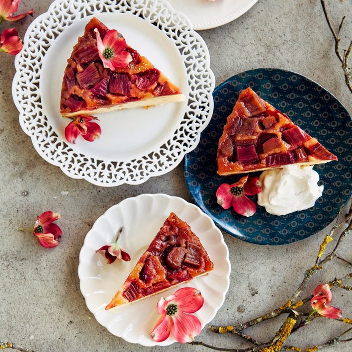
[[[247,86],[338,157],[338,161],[314,167],[320,175],[320,184],[324,185],[323,195],[314,207],[276,216],[257,206],[257,212],[245,218],[217,204],[215,192],[219,185],[231,184],[240,178],[239,175],[221,177],[216,173],[216,153],[227,116],[239,92]],[[236,74],[220,84],[213,96],[212,120],[202,132],[196,149],[185,157],[187,187],[196,204],[230,235],[256,244],[296,242],[332,222],[351,190],[352,121],[341,103],[316,82],[294,72],[272,68]],[[252,199],[256,201],[256,197]]]

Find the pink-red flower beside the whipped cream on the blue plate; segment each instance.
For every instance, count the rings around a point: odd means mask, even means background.
[[[261,183],[258,178],[247,175],[232,185],[221,184],[216,191],[216,198],[224,209],[232,205],[236,213],[249,217],[256,212],[256,205],[246,196],[254,196],[259,192]]]

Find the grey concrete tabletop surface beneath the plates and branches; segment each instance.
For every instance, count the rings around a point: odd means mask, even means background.
[[[33,7],[35,16],[39,16],[49,5],[50,0],[24,0],[20,10]],[[328,0],[327,5],[336,26],[342,15],[347,17],[341,42],[341,46],[347,46],[352,34],[352,2]],[[1,29],[16,26],[23,37],[30,22],[31,18],[26,18],[3,23]],[[256,67],[285,68],[319,82],[352,112],[352,96],[344,84],[320,1],[259,0],[239,19],[201,35],[209,47],[217,83]],[[142,193],[166,193],[191,201],[183,165],[140,186],[108,189],[69,179],[58,167],[44,161],[22,132],[11,96],[14,72],[13,57],[0,53],[0,340],[40,352],[207,351],[205,347],[181,344],[146,348],[113,336],[87,310],[77,276],[84,236],[112,205]],[[30,233],[17,231],[19,226],[31,225],[37,214],[48,209],[62,214],[62,241],[53,250],[42,248]],[[231,284],[212,323],[246,321],[285,303],[305,269],[314,262],[323,236],[322,232],[289,246],[263,247],[225,233],[232,265]],[[347,238],[339,253],[351,260],[351,250],[352,241]],[[309,295],[316,284],[350,269],[342,262],[326,265],[302,297]],[[333,305],[352,318],[351,302],[351,293],[335,291]],[[249,331],[266,341],[282,319],[272,319]],[[319,319],[291,336],[288,343],[307,347],[345,329],[340,322]],[[248,346],[236,336],[216,335],[207,328],[197,340],[227,348]],[[352,343],[326,350],[351,351]]]

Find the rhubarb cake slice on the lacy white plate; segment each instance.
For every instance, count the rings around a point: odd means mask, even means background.
[[[62,80],[60,112],[72,117],[126,108],[148,107],[185,100],[180,88],[162,72],[126,44],[130,61],[127,67],[104,67],[97,46],[109,29],[93,18],[78,38]],[[121,34],[120,38],[121,38]],[[114,67],[113,67],[114,68]]]

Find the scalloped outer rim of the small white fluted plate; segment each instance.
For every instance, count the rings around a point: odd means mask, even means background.
[[[79,264],[78,264],[78,278],[79,278],[79,289],[81,291],[81,294],[82,296],[84,297],[84,301],[85,301],[85,304],[87,306],[87,308],[90,310],[90,312],[94,315],[95,319],[98,321],[99,324],[101,324],[102,326],[104,326],[105,328],[107,328],[107,330],[112,333],[113,335],[115,336],[118,336],[118,337],[121,337],[123,339],[125,339],[127,342],[130,342],[130,343],[139,343],[141,345],[144,345],[144,346],[156,346],[156,345],[162,345],[162,346],[165,346],[165,345],[169,345],[173,342],[176,342],[174,339],[172,341],[165,341],[164,342],[154,342],[151,340],[151,343],[149,342],[148,344],[144,344],[144,343],[141,343],[140,341],[135,341],[135,340],[128,340],[126,338],[124,338],[123,336],[117,334],[115,331],[112,331],[107,325],[108,323],[104,323],[103,321],[99,320],[99,318],[97,317],[97,314],[96,312],[94,311],[93,307],[90,307],[89,306],[89,302],[87,301],[87,298],[89,297],[89,294],[87,294],[84,290],[84,288],[82,287],[82,282],[83,282],[83,267],[84,267],[84,263],[82,261],[82,253],[84,251],[84,248],[87,246],[87,244],[89,243],[90,239],[89,239],[89,236],[90,236],[90,233],[93,233],[96,229],[96,226],[97,224],[102,221],[105,217],[107,217],[107,214],[109,212],[111,212],[111,210],[113,208],[118,208],[118,207],[123,207],[126,203],[128,202],[131,202],[131,201],[134,201],[134,202],[141,202],[143,198],[146,198],[146,197],[150,197],[150,198],[158,198],[158,197],[162,197],[162,198],[165,198],[167,200],[169,200],[170,202],[172,201],[176,201],[176,202],[181,202],[185,205],[185,207],[189,207],[190,209],[196,209],[197,212],[199,212],[199,214],[201,214],[201,216],[203,218],[206,218],[208,221],[210,221],[210,224],[211,224],[211,229],[213,231],[215,231],[215,233],[218,234],[218,237],[220,239],[220,244],[222,245],[223,249],[225,250],[226,252],[226,256],[225,257],[222,257],[221,259],[223,260],[223,264],[225,264],[225,271],[224,271],[224,280],[226,280],[226,288],[225,290],[222,292],[222,296],[221,296],[221,299],[219,300],[218,302],[218,305],[217,307],[214,309],[214,311],[212,312],[212,315],[211,315],[211,318],[209,319],[209,321],[201,321],[202,322],[202,329],[204,328],[204,326],[206,324],[208,324],[211,320],[213,320],[213,318],[215,317],[217,311],[221,308],[221,306],[223,305],[224,301],[225,301],[225,296],[226,296],[226,293],[228,292],[228,289],[229,289],[229,285],[230,285],[230,274],[231,274],[231,263],[230,263],[230,260],[229,260],[229,251],[228,251],[228,247],[224,241],[224,237],[223,237],[223,234],[222,232],[219,230],[219,228],[215,225],[214,221],[211,219],[211,217],[209,215],[207,215],[206,213],[204,213],[197,205],[195,204],[192,204],[192,203],[189,203],[187,202],[186,200],[184,200],[183,198],[181,197],[176,197],[176,196],[169,196],[167,194],[163,194],[163,193],[156,193],[156,194],[141,194],[141,195],[138,195],[136,197],[129,197],[129,198],[125,198],[124,200],[122,200],[121,202],[111,206],[110,208],[108,208],[103,215],[101,215],[96,221],[95,223],[93,224],[92,228],[90,229],[89,232],[87,232],[85,238],[84,238],[84,242],[83,242],[83,245],[80,249],[80,252],[79,252]],[[189,225],[191,226],[192,228],[192,223]],[[155,233],[156,234],[156,233]],[[199,237],[202,237],[201,234],[197,234],[197,236]],[[203,243],[204,244],[204,243]],[[214,260],[214,258],[211,258],[215,264],[216,260]],[[208,274],[211,275],[212,272],[210,272]],[[200,277],[199,279],[205,279],[206,280],[207,276],[203,276],[203,277]],[[186,284],[181,284],[180,287],[183,287],[183,285],[187,285]],[[179,288],[180,288],[179,287]],[[170,289],[170,291],[172,291],[172,288]],[[168,291],[165,291],[165,293],[163,295],[167,295],[167,292]]]

